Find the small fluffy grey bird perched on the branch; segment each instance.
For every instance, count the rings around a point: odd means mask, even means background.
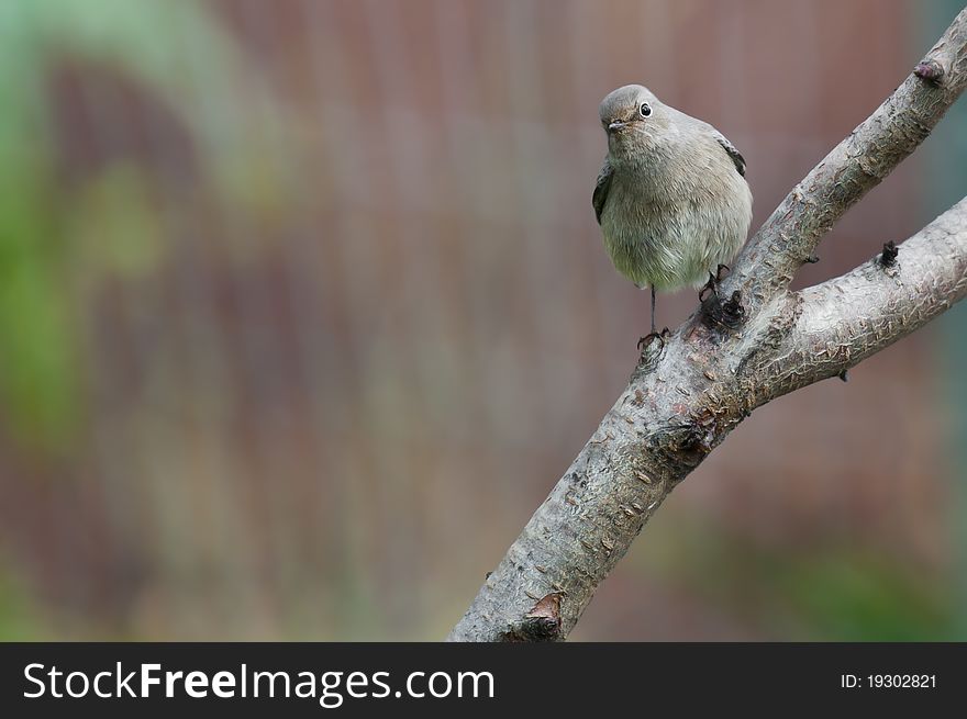
[[[720,266],[745,243],[752,192],[745,160],[710,124],[647,88],[618,88],[599,109],[608,155],[592,204],[614,267],[638,288],[714,291]],[[711,276],[711,277],[710,277]]]

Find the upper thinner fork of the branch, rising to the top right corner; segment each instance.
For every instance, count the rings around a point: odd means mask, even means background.
[[[736,260],[726,293],[741,290],[752,314],[785,290],[833,224],[916,149],[965,87],[967,8],[893,94],[776,207]]]

